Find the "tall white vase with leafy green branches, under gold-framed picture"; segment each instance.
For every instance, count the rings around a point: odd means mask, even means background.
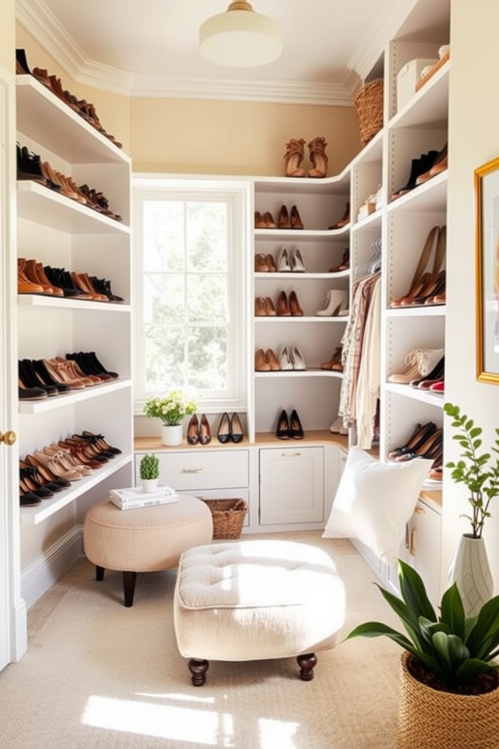
[[[451,426],[457,430],[453,440],[462,448],[458,461],[446,464],[456,484],[464,484],[468,491],[471,514],[463,515],[471,524],[471,533],[463,533],[459,539],[448,581],[456,580],[462,595],[465,612],[472,616],[488,601],[494,591],[494,583],[487,557],[483,527],[491,515],[492,500],[499,494],[499,429],[490,452],[480,452],[482,428],[461,412],[459,406],[444,404],[444,412],[453,419]],[[495,452],[495,456],[492,455]]]

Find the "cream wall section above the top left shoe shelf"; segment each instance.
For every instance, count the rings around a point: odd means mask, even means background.
[[[2,0],[4,2],[5,0]],[[10,0],[9,0],[10,1]],[[3,19],[3,11],[2,11]],[[93,103],[102,127],[113,135],[117,141],[123,143],[123,151],[129,154],[129,98],[119,94],[111,94],[100,88],[91,88],[86,84],[77,83],[68,75],[60,64],[33,39],[31,34],[20,25],[16,25],[16,46],[26,50],[26,58],[30,70],[34,67],[45,68],[49,75],[61,79],[63,89],[70,91],[79,99]]]

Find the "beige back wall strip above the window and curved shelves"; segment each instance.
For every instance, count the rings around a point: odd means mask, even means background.
[[[284,175],[285,144],[328,142],[328,175],[361,149],[352,107],[134,98],[130,137],[135,172]],[[307,168],[308,149],[305,146]]]

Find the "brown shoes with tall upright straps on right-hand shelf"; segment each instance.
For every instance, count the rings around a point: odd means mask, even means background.
[[[447,227],[433,226],[426,237],[408,291],[391,307],[445,304],[445,260]],[[433,260],[432,260],[433,258]]]

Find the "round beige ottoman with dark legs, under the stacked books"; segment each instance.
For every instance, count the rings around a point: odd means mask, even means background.
[[[130,510],[97,503],[85,516],[83,544],[97,580],[105,569],[123,571],[125,606],[132,606],[137,572],[177,567],[183,551],[210,542],[212,533],[206,503],[184,494],[178,502]]]

